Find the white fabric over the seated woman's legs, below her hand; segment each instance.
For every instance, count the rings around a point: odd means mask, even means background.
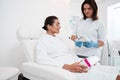
[[[116,80],[120,67],[97,65],[87,73],[77,73],[78,80]]]

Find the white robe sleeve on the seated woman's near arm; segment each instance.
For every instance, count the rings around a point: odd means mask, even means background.
[[[63,67],[64,63],[58,62],[55,59],[48,56],[47,46],[38,42],[35,47],[35,62],[42,65]]]

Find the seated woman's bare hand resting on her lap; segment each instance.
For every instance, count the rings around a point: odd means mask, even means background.
[[[69,70],[71,72],[87,72],[87,66],[81,65],[80,62],[75,62],[73,64],[65,64],[63,66],[64,69]]]

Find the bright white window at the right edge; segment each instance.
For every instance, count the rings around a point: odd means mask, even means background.
[[[108,40],[120,40],[120,2],[108,7]]]

